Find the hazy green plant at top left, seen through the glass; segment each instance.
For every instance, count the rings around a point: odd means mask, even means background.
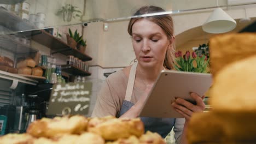
[[[72,4],[66,4],[65,6],[61,7],[56,13],[57,16],[62,16],[63,21],[71,21],[72,17],[75,19],[77,17],[81,17],[82,12],[77,9]]]

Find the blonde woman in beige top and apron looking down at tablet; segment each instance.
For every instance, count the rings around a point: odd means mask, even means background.
[[[158,13],[159,7],[140,8],[135,15]],[[138,117],[143,103],[162,69],[173,68],[174,43],[173,21],[170,15],[135,17],[129,22],[128,33],[137,61],[132,66],[117,71],[108,77],[98,94],[92,117],[116,116]],[[142,117],[146,130],[165,137],[174,127],[177,143],[185,143],[187,123],[193,112],[205,109],[203,100],[195,93],[190,94],[197,105],[177,98],[174,109],[184,118]],[[184,128],[183,128],[184,126]]]

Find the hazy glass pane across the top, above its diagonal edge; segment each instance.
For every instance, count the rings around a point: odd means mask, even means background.
[[[164,8],[167,13],[178,14],[235,5],[229,2],[231,0],[2,0],[0,34],[83,22],[125,20],[143,5],[156,5]]]

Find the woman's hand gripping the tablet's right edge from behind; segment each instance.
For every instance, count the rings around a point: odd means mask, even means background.
[[[196,105],[181,98],[177,98],[172,103],[173,108],[178,113],[181,113],[181,115],[185,117],[186,121],[189,121],[194,112],[203,112],[203,110],[205,110],[205,103],[203,103],[203,98],[205,98],[205,96],[200,97],[196,93],[190,93],[190,97],[196,101]]]

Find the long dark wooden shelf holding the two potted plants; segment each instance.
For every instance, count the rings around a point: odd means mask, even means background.
[[[42,44],[46,47],[49,47],[52,52],[51,53],[62,53],[63,55],[73,55],[74,57],[78,57],[82,61],[91,61],[91,57],[70,47],[68,44],[63,41],[55,38],[48,32],[44,30],[37,30],[31,32],[31,39],[37,41],[37,43]]]

